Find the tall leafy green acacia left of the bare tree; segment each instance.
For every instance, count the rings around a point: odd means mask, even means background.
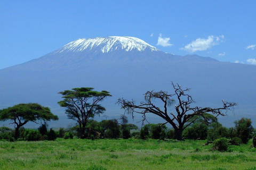
[[[99,105],[104,98],[111,96],[108,91],[93,91],[94,88],[82,87],[59,92],[63,100],[58,104],[66,107],[68,118],[75,120],[79,125],[81,138],[85,138],[86,124],[90,118],[102,114],[106,109]]]

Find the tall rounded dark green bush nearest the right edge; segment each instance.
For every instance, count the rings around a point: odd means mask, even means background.
[[[252,138],[252,121],[250,118],[241,118],[241,120],[235,121],[235,130],[237,137],[240,138],[243,143],[247,143],[249,138]]]

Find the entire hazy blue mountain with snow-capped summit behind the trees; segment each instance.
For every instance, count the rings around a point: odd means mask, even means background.
[[[222,99],[238,103],[238,117],[229,114],[232,126],[242,116],[256,122],[252,117],[256,110],[255,74],[255,65],[168,54],[134,37],[78,39],[35,60],[0,70],[0,109],[39,103],[60,113],[60,127],[67,117],[57,104],[61,100],[58,92],[93,87],[110,91],[113,97],[102,105],[109,118],[117,118],[123,113],[115,105],[119,97],[139,103],[147,90],[172,94],[173,81],[191,88],[190,95],[198,106],[219,107]],[[140,116],[137,117],[139,121]],[[149,116],[148,120],[164,123],[157,117]]]

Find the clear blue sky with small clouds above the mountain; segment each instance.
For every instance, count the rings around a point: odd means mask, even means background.
[[[78,38],[108,36],[137,37],[176,55],[256,64],[255,9],[255,1],[1,1],[0,69]]]

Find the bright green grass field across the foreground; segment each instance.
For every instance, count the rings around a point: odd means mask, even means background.
[[[256,169],[256,149],[210,151],[205,141],[0,141],[0,169]]]

